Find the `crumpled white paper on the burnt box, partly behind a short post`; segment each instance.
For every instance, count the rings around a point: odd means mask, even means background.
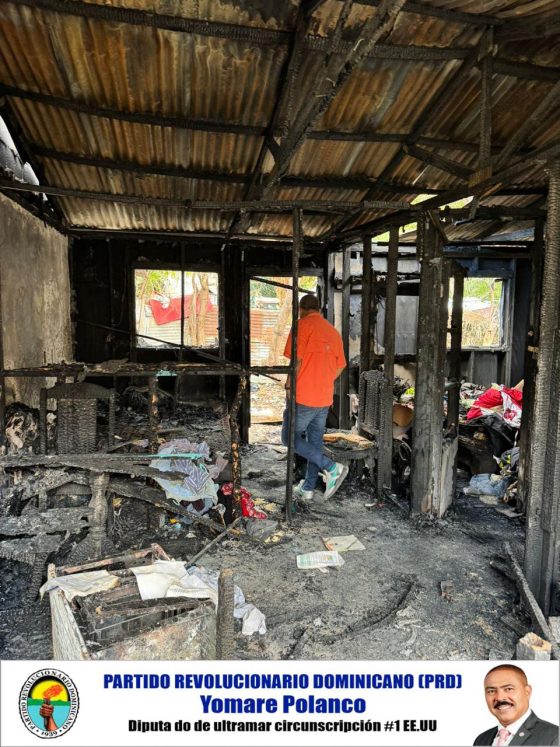
[[[185,570],[184,563],[174,560],[157,560],[152,565],[131,569],[136,576],[138,591],[142,599],[161,597],[190,597],[210,599],[218,606],[218,571],[203,566],[191,566]],[[233,616],[243,621],[243,635],[266,633],[266,618],[263,613],[245,601],[245,595],[234,586]]]

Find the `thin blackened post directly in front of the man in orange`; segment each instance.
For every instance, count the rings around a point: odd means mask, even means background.
[[[299,316],[299,257],[302,249],[302,211],[296,209],[293,216],[292,242],[292,349],[290,351],[291,377],[290,395],[288,397],[288,460],[286,465],[286,522],[292,521],[292,491],[294,480],[294,440],[296,434],[296,361],[297,361],[297,320]]]

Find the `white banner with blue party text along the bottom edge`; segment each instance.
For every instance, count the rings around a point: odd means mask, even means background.
[[[64,747],[472,745],[497,725],[483,685],[496,664],[3,661],[0,741],[3,747],[37,747],[41,739]],[[532,686],[533,712],[558,724],[558,662],[512,664]]]

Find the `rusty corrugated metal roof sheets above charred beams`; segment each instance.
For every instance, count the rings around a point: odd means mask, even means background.
[[[288,158],[285,174],[305,183],[292,188],[280,179],[263,189],[259,185],[266,185],[275,163],[264,146],[263,135],[274,121],[285,88],[300,2],[99,3],[44,0],[43,9],[39,9],[32,7],[30,0],[3,0],[0,5],[0,86],[39,94],[40,99],[46,95],[67,102],[61,106],[52,100],[22,98],[13,90],[7,94],[28,150],[36,152],[35,163],[42,162],[44,178],[52,186],[229,203],[247,197],[249,177],[261,163],[252,199],[256,195],[268,200],[402,201],[412,200],[422,189],[466,188],[468,175],[478,168],[476,147],[468,145],[476,146],[479,140],[481,85],[479,69],[469,67],[466,57],[469,50],[478,48],[483,22],[495,26],[496,59],[545,68],[542,72],[524,68],[520,77],[503,71],[494,75],[496,144],[507,143],[525,123],[553,89],[560,68],[557,0],[423,0],[421,4],[416,2],[412,11],[405,5],[392,28],[380,38],[377,49],[374,47],[353,70],[322,116],[312,123],[311,129],[327,132],[332,139],[303,137]],[[340,64],[356,43],[361,25],[377,12],[367,2],[355,2],[333,55],[326,60],[342,7],[339,0],[326,0],[307,20],[301,56],[291,68],[289,95],[284,98],[289,104],[276,120],[274,137],[280,149],[289,138],[287,130],[280,131],[279,125],[289,129],[303,116],[317,97],[328,59]],[[300,47],[296,45],[296,49]],[[461,75],[454,86],[453,80]],[[531,75],[533,79],[529,79]],[[335,78],[336,74],[332,80],[327,74],[332,85]],[[427,117],[435,102],[439,102],[437,115]],[[91,108],[73,111],[73,103]],[[108,110],[138,121],[107,116]],[[557,114],[558,103],[556,116],[551,107],[539,117],[522,146],[527,149],[558,143]],[[151,119],[147,121],[144,115],[151,115]],[[173,124],[166,118],[175,118]],[[210,124],[206,130],[203,123],[193,129],[193,121]],[[251,132],[258,134],[213,131],[220,127],[235,130],[236,126],[257,128]],[[337,133],[342,138],[355,135],[355,139],[336,139]],[[367,135],[362,137],[360,133]],[[406,155],[402,142],[372,142],[374,134],[406,135],[411,144],[419,135],[452,142],[448,146],[420,143],[433,158],[430,165],[419,160],[418,153]],[[466,142],[467,146],[455,147],[455,141]],[[265,157],[259,159],[263,148]],[[56,159],[52,153],[37,155],[45,150],[65,154],[67,160]],[[80,164],[79,157],[97,165]],[[442,159],[450,161],[450,166],[446,168]],[[125,165],[110,168],[108,160]],[[127,163],[135,169],[127,171]],[[146,167],[147,173],[138,173],[140,167]],[[157,171],[158,167],[185,170],[185,175],[181,177],[175,170],[173,176],[150,173],[150,168]],[[206,172],[208,178],[195,178],[189,174],[193,170]],[[213,174],[215,179],[211,178]],[[239,179],[225,183],[220,175]],[[245,183],[243,175],[247,177]],[[345,186],[344,179],[365,177],[372,180],[369,189],[367,185],[361,189]],[[328,186],[327,182],[315,186],[316,178],[332,179],[336,185]],[[374,180],[381,180],[378,187]],[[534,187],[535,196],[516,195],[506,202],[490,197],[486,204],[530,206],[546,188],[542,164],[535,164],[516,181]],[[394,184],[410,191],[392,191],[390,185]],[[61,206],[70,226],[110,230],[225,234],[235,217],[231,211],[125,205],[79,197],[52,199]],[[357,227],[383,214],[381,210],[356,211],[344,226]],[[304,216],[305,232],[310,237],[327,236],[340,225],[338,213]],[[251,235],[289,236],[291,216],[252,213],[246,230]],[[466,235],[470,229],[462,224],[453,230]],[[484,226],[472,230],[482,232]]]

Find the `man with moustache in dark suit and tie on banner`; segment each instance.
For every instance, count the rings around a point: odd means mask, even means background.
[[[496,747],[558,744],[558,727],[542,721],[529,708],[531,692],[531,685],[520,667],[500,664],[491,669],[484,678],[484,695],[498,725],[479,734],[474,744]]]

